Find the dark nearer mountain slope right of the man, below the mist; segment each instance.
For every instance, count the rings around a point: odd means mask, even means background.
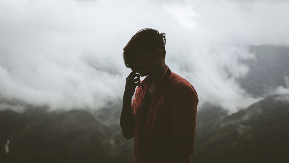
[[[211,111],[199,113],[197,123]],[[289,95],[268,96],[247,109],[216,117],[219,120],[206,119],[208,130],[197,125],[194,162],[289,162]]]

